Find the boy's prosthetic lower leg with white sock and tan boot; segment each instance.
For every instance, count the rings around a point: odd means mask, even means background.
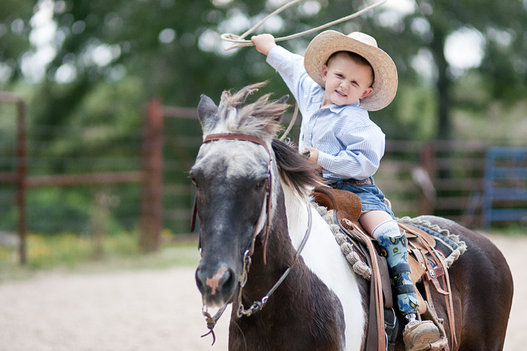
[[[406,234],[399,232],[397,222],[389,220],[379,224],[372,236],[380,245],[383,256],[386,257],[390,275],[397,292],[399,311],[406,317],[403,340],[407,351],[417,351],[429,348],[429,345],[440,337],[439,329],[431,320],[419,321],[416,312],[419,300],[412,283],[408,252],[406,249]]]

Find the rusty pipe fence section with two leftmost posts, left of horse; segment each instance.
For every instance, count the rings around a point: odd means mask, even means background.
[[[16,147],[14,153],[9,146],[1,151],[0,207],[4,219],[9,219],[9,213],[13,212],[9,207],[16,204],[21,263],[24,264],[27,259],[28,222],[38,230],[53,230],[57,227],[53,218],[60,216],[63,218],[60,230],[78,233],[89,230],[90,212],[100,213],[101,209],[105,212],[109,207],[114,207],[111,211],[118,214],[122,226],[138,228],[144,250],[159,248],[162,227],[162,116],[152,113],[160,105],[158,101],[151,101],[147,106],[141,130],[131,135],[129,131],[124,132],[126,136],[123,140],[130,143],[132,149],[128,156],[109,152],[96,155],[89,152],[78,155],[67,150],[63,153],[46,152],[51,147],[46,141],[56,134],[75,140],[86,131],[42,125],[28,127],[22,97],[0,92],[0,102],[16,106],[15,130],[2,131],[4,139],[16,135]],[[13,185],[16,191],[13,191]],[[55,191],[50,192],[50,188]],[[57,188],[61,190],[57,192]],[[93,198],[92,209],[76,210],[75,206],[61,206],[68,201],[85,204],[86,198]],[[28,199],[38,204],[28,203]],[[61,210],[66,213],[57,213]]]

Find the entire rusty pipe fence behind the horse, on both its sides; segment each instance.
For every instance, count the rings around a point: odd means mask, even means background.
[[[159,248],[164,228],[176,234],[189,232],[194,189],[188,171],[202,142],[195,108],[163,106],[159,99],[151,99],[142,127],[123,131],[122,143],[127,144],[121,146],[130,149],[125,156],[100,150],[64,156],[40,152],[48,147],[42,139],[57,133],[76,138],[86,131],[27,127],[21,97],[0,93],[0,102],[16,107],[16,137],[7,142],[15,147],[0,150],[0,209],[6,208],[7,203],[16,205],[22,262],[26,260],[28,216],[30,223],[40,221],[41,227],[53,217],[49,208],[28,204],[27,194],[34,198],[39,192],[38,196],[45,200],[48,188],[64,189],[60,193],[64,197],[91,196],[95,210],[109,210],[121,225],[138,228],[145,250]],[[284,123],[289,123],[291,117],[286,114]],[[294,141],[298,139],[299,121],[300,118],[289,133]],[[35,144],[36,140],[41,142]],[[391,200],[398,217],[433,214],[465,226],[480,226],[488,147],[483,142],[389,140],[375,182]],[[51,174],[49,165],[53,166]],[[117,204],[108,200],[112,198]],[[89,225],[90,218],[73,214],[71,220],[70,227],[79,232]]]

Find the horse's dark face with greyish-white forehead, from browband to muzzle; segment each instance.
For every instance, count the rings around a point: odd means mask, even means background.
[[[236,296],[240,257],[265,225],[269,155],[251,142],[213,141],[201,146],[190,175],[197,187],[203,257],[196,280],[204,302],[221,307]]]

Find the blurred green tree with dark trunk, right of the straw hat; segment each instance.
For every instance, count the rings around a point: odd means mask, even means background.
[[[494,99],[515,102],[527,93],[525,1],[416,0],[413,11],[399,21],[394,21],[393,15],[390,19],[386,9],[370,17],[368,23],[398,58],[403,82],[420,69],[432,70],[429,74],[435,82],[440,139],[452,137],[454,108],[478,107],[473,104],[473,96],[462,94],[459,98],[457,94],[456,98],[453,94],[454,83],[462,81],[460,78],[470,68],[482,77],[483,86],[479,89],[488,93],[486,101],[480,103],[480,111]],[[379,32],[382,27],[391,31]],[[460,38],[464,43],[458,41]],[[428,68],[426,61],[431,63]],[[413,67],[414,72],[401,70],[402,67]],[[478,94],[474,91],[473,95]]]

